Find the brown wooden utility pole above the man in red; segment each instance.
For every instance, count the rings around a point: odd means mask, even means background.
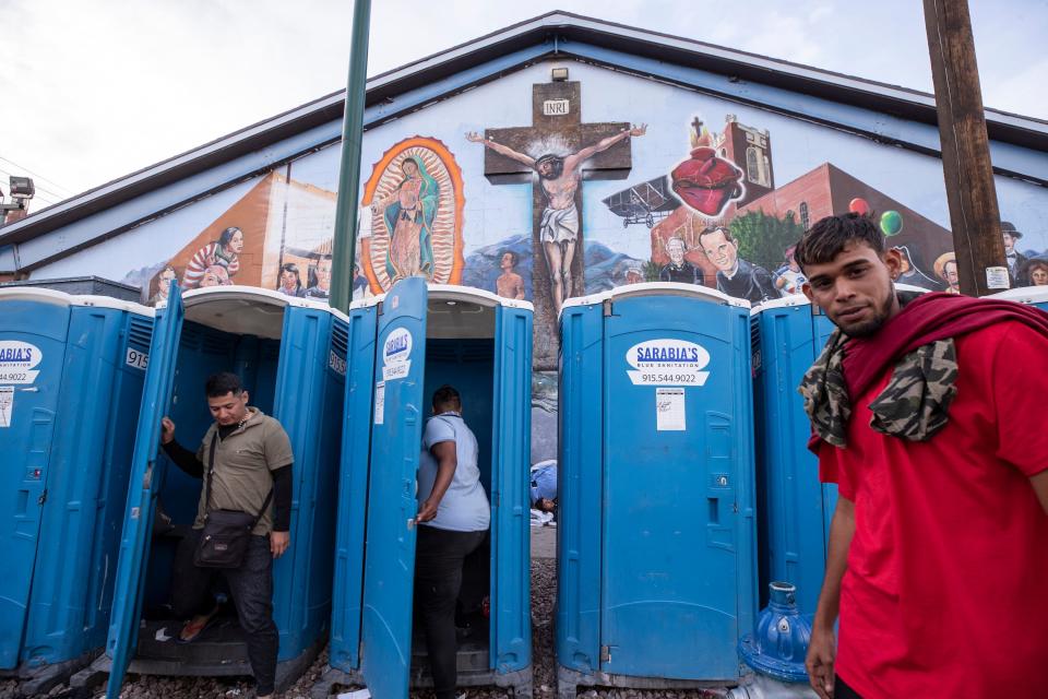
[[[1009,279],[972,17],[967,0],[924,2],[961,291],[986,296]]]

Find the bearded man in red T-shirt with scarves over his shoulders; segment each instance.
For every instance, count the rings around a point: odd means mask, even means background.
[[[812,687],[1048,696],[1048,315],[896,294],[898,252],[856,214],[823,218],[795,254],[838,329],[800,387],[838,486]]]

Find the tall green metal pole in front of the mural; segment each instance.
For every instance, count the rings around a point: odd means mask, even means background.
[[[335,209],[335,239],[331,257],[331,306],[349,311],[353,300],[353,271],[357,251],[357,194],[360,189],[360,145],[364,141],[364,106],[368,84],[368,32],[371,0],[354,0],[353,44],[349,47],[349,78],[346,81],[346,111],[342,122],[342,164],[338,167],[338,199]]]

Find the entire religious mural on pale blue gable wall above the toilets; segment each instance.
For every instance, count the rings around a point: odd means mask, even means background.
[[[535,304],[537,457],[556,453],[557,311],[573,296],[655,281],[751,301],[796,294],[794,244],[849,211],[903,251],[903,281],[958,291],[937,158],[560,63],[573,81],[544,82],[539,63],[369,129],[362,162],[373,165],[356,194],[354,298],[421,274]],[[171,279],[326,298],[338,162],[337,143],[321,147],[34,277],[98,274],[154,303]],[[997,182],[1012,282],[1048,285],[1048,190]]]

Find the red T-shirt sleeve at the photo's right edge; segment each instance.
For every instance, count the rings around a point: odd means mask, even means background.
[[[997,455],[1027,476],[1048,469],[1048,337],[1010,322],[995,351]]]

